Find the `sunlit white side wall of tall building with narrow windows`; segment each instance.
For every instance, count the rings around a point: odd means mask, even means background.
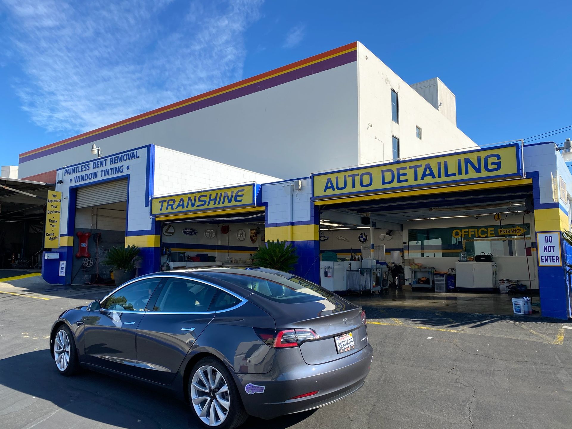
[[[401,158],[476,146],[361,43],[358,70],[360,164],[391,160],[392,136],[399,138]],[[391,120],[392,89],[399,95],[399,124]],[[422,129],[422,140],[415,126]]]

